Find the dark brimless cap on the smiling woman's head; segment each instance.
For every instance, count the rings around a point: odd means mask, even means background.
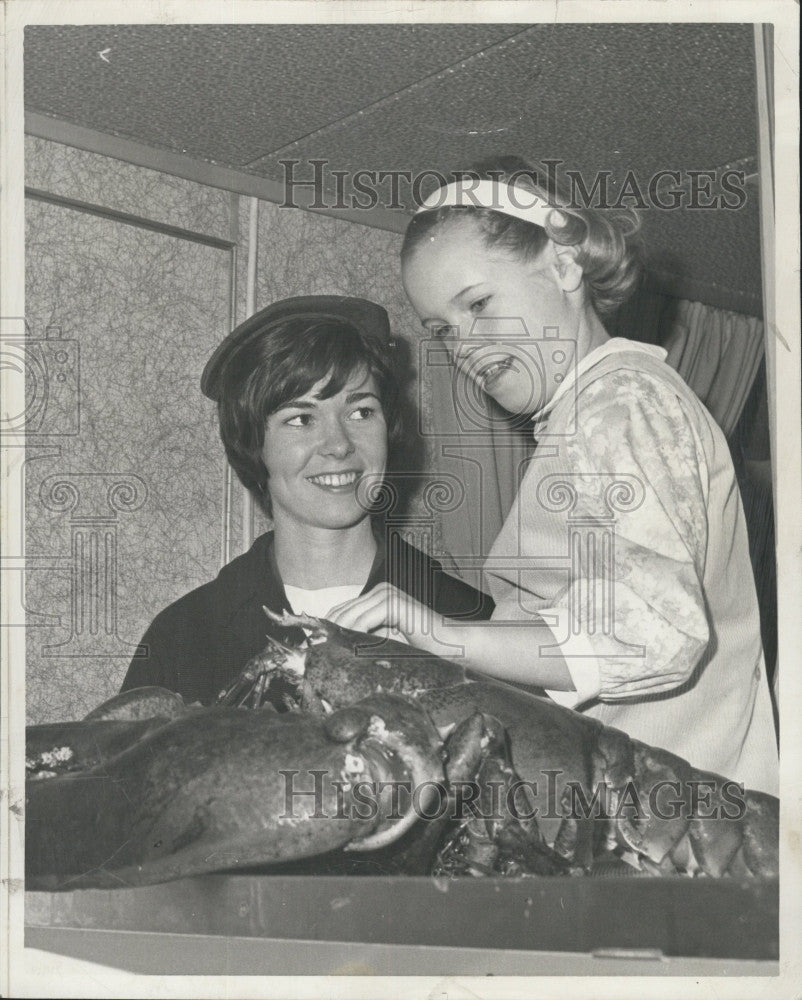
[[[367,337],[383,340],[392,346],[390,318],[386,310],[368,299],[347,295],[299,295],[281,299],[254,313],[240,323],[206,362],[201,375],[201,390],[209,399],[219,400],[223,369],[240,348],[266,333],[274,323],[288,319],[339,320],[350,323]]]

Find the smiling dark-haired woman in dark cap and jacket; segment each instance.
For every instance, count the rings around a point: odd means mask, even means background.
[[[371,514],[405,440],[396,353],[384,309],[343,296],[276,302],[220,345],[201,388],[273,530],[156,616],[123,690],[156,684],[209,704],[268,635],[303,638],[263,607],[325,617],[384,582],[439,614],[490,616],[486,595],[420,550],[395,538],[388,552]]]

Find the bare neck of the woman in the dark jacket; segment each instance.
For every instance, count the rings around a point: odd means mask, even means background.
[[[276,565],[290,587],[320,590],[364,584],[376,556],[370,518],[351,528],[314,528],[280,515],[273,525]]]

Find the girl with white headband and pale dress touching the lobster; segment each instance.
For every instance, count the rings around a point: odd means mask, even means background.
[[[446,656],[459,648],[477,671],[545,688],[776,794],[727,442],[662,348],[605,329],[639,279],[636,213],[577,206],[542,176],[517,158],[455,174],[424,201],[402,248],[404,288],[429,335],[533,422],[537,448],[485,567],[494,620],[432,622],[389,584],[330,617],[363,631],[396,626]]]

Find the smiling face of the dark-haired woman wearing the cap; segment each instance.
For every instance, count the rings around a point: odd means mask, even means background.
[[[367,516],[357,502],[364,475],[387,462],[387,425],[372,375],[356,371],[328,399],[328,377],[267,418],[262,458],[273,518],[314,528],[349,528]]]

